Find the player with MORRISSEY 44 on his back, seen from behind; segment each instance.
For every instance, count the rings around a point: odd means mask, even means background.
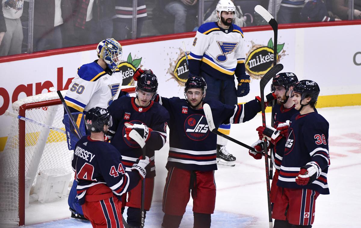
[[[91,108],[85,122],[91,133],[77,142],[71,162],[79,203],[93,227],[123,227],[121,196],[145,177],[150,160],[141,159],[125,171],[119,151],[104,141],[104,133],[112,126],[109,112]]]

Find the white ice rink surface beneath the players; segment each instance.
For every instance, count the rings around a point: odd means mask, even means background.
[[[318,112],[330,123],[331,166],[327,176],[330,195],[317,198],[313,227],[360,227],[361,106],[322,108]],[[266,121],[270,123],[270,113],[266,113]],[[257,114],[249,122],[232,124],[230,136],[251,145],[258,139],[256,128],[260,125],[261,114]],[[264,159],[253,159],[247,149],[233,142],[229,142],[227,148],[237,158],[236,166],[218,166],[215,172],[217,197],[212,228],[269,227]],[[156,152],[157,176],[153,204],[145,219],[146,228],[161,227],[168,149],[169,143]],[[25,215],[27,228],[91,227],[88,222],[69,218],[67,199],[46,204],[31,203]],[[14,226],[0,224],[0,227]],[[193,227],[192,199],[181,223],[181,228],[188,227]]]

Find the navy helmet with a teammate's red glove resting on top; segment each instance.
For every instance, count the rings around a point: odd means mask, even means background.
[[[158,90],[158,79],[151,70],[146,70],[142,75],[140,75],[140,78],[138,79],[135,87],[136,96],[138,96],[139,90],[153,93],[151,100],[154,100],[154,98],[156,97]]]

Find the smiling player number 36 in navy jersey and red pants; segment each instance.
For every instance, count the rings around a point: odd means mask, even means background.
[[[299,114],[292,116],[288,128],[272,211],[275,228],[312,227],[317,197],[330,194],[329,123],[315,108],[319,92],[311,80],[301,80],[291,90]],[[275,135],[273,130],[264,134]]]

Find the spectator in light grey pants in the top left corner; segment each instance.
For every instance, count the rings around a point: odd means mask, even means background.
[[[20,17],[24,0],[3,0],[2,7],[6,32],[0,45],[0,56],[21,53],[23,32]]]

